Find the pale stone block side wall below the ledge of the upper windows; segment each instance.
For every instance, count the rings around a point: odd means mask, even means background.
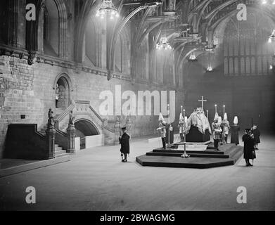
[[[78,72],[77,72],[78,71]],[[63,68],[46,63],[28,65],[27,60],[13,56],[0,58],[0,153],[3,151],[8,124],[32,123],[38,124],[38,129],[46,125],[49,108],[55,112],[56,77],[65,73],[70,77],[70,98],[74,101],[90,101],[91,106],[100,115],[99,99],[101,91],[112,91],[115,101],[115,85],[121,85],[123,91],[169,91],[165,86],[152,86],[141,82],[130,82],[126,79],[113,78],[107,80],[105,75],[96,75],[75,69]],[[183,94],[176,93],[177,105],[182,104]],[[167,96],[169,99],[169,95]],[[125,100],[124,100],[125,101]],[[122,103],[124,102],[122,100]],[[179,113],[179,112],[177,112]],[[25,115],[25,118],[21,118]],[[102,115],[101,115],[102,116]],[[115,120],[114,116],[102,116]],[[178,115],[176,115],[177,120]],[[132,116],[132,136],[155,133],[158,126],[158,116]],[[122,123],[126,117],[122,117]]]

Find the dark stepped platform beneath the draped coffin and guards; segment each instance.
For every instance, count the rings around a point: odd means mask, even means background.
[[[190,158],[181,158],[183,150],[156,148],[146,155],[136,157],[136,162],[147,167],[211,168],[234,165],[243,155],[243,147],[226,144],[219,151],[210,144],[206,150],[186,150]]]

